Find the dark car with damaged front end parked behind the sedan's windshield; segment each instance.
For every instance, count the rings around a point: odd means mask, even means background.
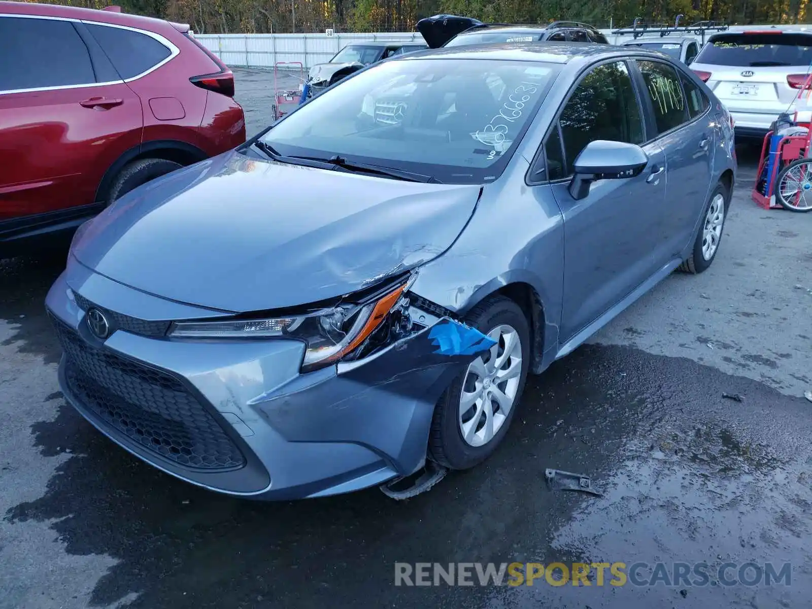
[[[427,48],[426,45],[419,42],[376,41],[347,45],[342,50],[339,50],[329,62],[317,63],[310,68],[307,77],[307,84],[309,84],[308,97],[321,93],[327,87],[365,66],[378,63],[383,59]]]

